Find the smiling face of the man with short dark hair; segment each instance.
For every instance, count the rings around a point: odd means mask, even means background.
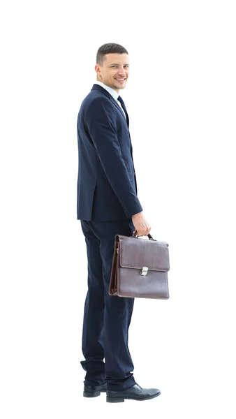
[[[119,93],[119,89],[126,87],[128,69],[128,54],[106,54],[103,66],[101,67],[99,64],[95,66],[98,81],[103,82],[106,86],[112,87],[117,93]]]

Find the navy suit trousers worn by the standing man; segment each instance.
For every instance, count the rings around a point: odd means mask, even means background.
[[[126,390],[135,384],[128,350],[128,328],[134,298],[108,293],[115,235],[133,235],[132,219],[80,220],[87,245],[88,291],[84,304],[81,361],[84,385],[107,383],[108,390]],[[104,362],[105,358],[105,362]]]

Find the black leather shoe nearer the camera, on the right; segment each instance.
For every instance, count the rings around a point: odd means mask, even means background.
[[[107,390],[107,402],[119,403],[124,402],[124,399],[148,400],[154,399],[154,397],[157,397],[158,395],[161,395],[161,392],[157,388],[142,388],[140,385],[135,383],[135,385],[133,385],[131,388],[128,388],[128,390]]]

